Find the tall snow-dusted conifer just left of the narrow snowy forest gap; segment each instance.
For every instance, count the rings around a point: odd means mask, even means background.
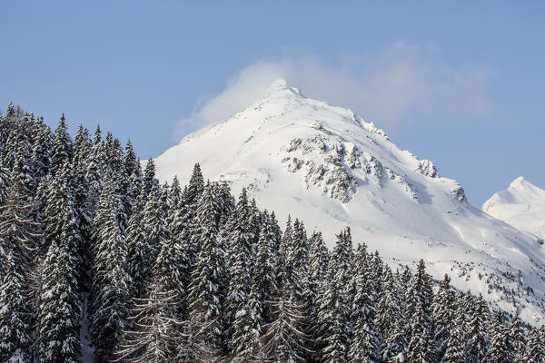
[[[44,363],[79,362],[82,348],[78,286],[80,237],[67,187],[61,184],[60,188],[59,194],[64,194],[59,201],[63,212],[56,216],[58,221],[48,221],[48,225],[58,225],[61,231],[54,236],[45,255],[38,313],[37,342],[40,362]]]

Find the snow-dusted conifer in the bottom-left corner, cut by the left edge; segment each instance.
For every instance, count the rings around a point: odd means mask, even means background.
[[[30,363],[30,310],[25,296],[23,265],[14,251],[3,256],[5,273],[0,285],[0,360],[6,363]]]

